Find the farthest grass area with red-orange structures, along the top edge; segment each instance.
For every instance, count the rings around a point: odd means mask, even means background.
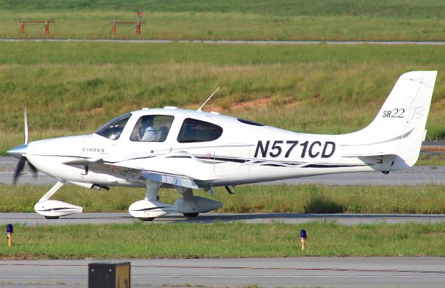
[[[18,19],[54,19],[51,38],[153,38],[209,40],[443,40],[439,0],[248,1],[0,1],[0,37],[35,38],[43,24],[19,33]],[[144,11],[142,33],[134,25]]]

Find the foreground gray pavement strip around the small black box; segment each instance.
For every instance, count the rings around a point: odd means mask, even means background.
[[[131,262],[132,287],[444,287],[444,257],[115,259]],[[87,287],[88,263],[0,261],[1,287]]]

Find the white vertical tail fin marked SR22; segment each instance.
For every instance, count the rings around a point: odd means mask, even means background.
[[[350,134],[357,143],[350,145],[351,150],[355,154],[387,155],[388,170],[414,166],[426,133],[436,76],[437,71],[403,74],[373,122]]]

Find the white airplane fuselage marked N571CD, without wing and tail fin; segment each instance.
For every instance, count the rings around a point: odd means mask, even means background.
[[[163,134],[160,138],[138,138],[144,117],[154,119],[153,130]],[[352,134],[300,134],[213,112],[143,109],[101,129],[90,135],[31,142],[26,157],[35,168],[58,179],[107,186],[145,184],[131,173],[98,173],[63,163],[103,159],[138,170],[186,175],[198,179],[200,186],[385,170],[378,157],[345,157],[351,151]]]

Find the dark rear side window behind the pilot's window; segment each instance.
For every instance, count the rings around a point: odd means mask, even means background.
[[[218,125],[186,118],[182,123],[177,141],[179,143],[208,142],[220,138],[223,128]]]

